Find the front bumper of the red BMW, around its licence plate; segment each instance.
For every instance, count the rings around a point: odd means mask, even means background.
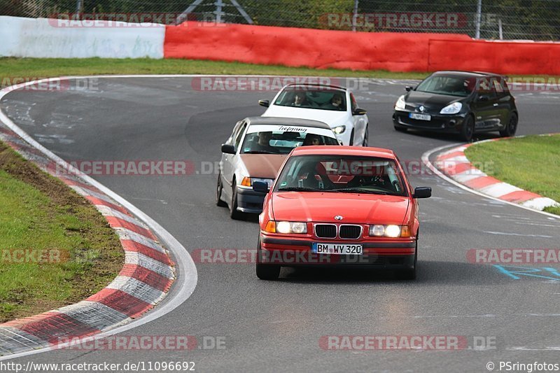
[[[285,267],[374,267],[379,269],[412,269],[416,254],[415,239],[383,241],[337,240],[337,243],[361,244],[362,255],[332,255],[311,253],[314,242],[321,239],[279,238],[276,235],[260,234],[258,260],[263,264]]]

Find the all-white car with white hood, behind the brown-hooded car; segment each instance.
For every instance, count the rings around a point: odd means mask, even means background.
[[[259,100],[264,117],[286,117],[325,122],[342,145],[367,146],[366,111],[358,108],[354,95],[335,85],[288,84],[272,100]]]

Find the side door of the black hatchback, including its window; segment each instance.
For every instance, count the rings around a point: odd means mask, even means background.
[[[498,97],[490,78],[482,78],[478,81],[477,92],[471,106],[475,112],[475,129],[487,129],[497,125]]]

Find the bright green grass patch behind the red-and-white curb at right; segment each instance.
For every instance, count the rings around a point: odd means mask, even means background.
[[[560,202],[560,134],[489,141],[470,146],[465,155],[500,181]],[[560,207],[545,211],[560,215]]]

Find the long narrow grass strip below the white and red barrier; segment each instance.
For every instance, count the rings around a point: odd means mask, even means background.
[[[422,79],[428,73],[391,73],[389,71],[351,71],[309,69],[305,67],[265,66],[240,62],[192,59],[62,59],[0,58],[0,77],[37,77],[99,74],[218,74],[341,76],[391,79]]]

